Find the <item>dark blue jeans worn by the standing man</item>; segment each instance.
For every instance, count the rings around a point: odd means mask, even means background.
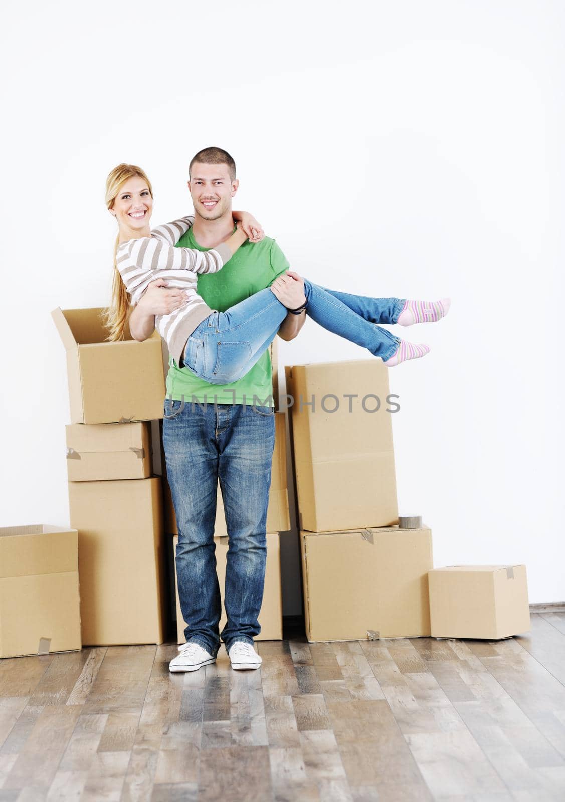
[[[215,657],[220,638],[229,649],[234,640],[252,643],[261,631],[274,414],[271,407],[242,404],[210,402],[203,407],[165,399],[163,446],[177,515],[185,638]],[[213,539],[218,477],[230,537],[222,633]]]

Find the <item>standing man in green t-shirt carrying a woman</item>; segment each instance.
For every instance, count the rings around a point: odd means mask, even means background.
[[[189,165],[194,224],[178,245],[208,250],[234,231],[232,199],[238,191],[235,163],[221,148],[205,148]],[[230,306],[270,286],[275,279],[289,309],[304,302],[303,284],[287,273],[288,261],[270,237],[247,241],[218,273],[199,274],[197,291],[213,310]],[[154,330],[165,294],[176,308],[178,290],[153,282],[132,312],[130,330],[137,340]],[[278,330],[296,337],[306,314],[289,312]],[[169,358],[163,444],[177,515],[177,580],[187,642],[169,664],[171,671],[197,670],[214,662],[220,639],[234,669],[258,668],[254,650],[259,634],[266,562],[266,509],[274,449],[274,414],[268,403],[272,373],[268,351],[237,382],[209,384]],[[196,403],[193,403],[196,402]],[[220,481],[230,547],[222,633],[220,589],[216,574],[213,526]]]

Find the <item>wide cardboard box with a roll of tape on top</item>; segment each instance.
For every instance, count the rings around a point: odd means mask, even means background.
[[[309,641],[430,634],[428,527],[303,531],[300,544]]]

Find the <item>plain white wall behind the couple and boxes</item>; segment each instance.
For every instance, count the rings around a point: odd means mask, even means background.
[[[108,302],[104,179],[154,221],[190,211],[193,153],[238,164],[238,206],[315,282],[453,298],[390,371],[400,513],[435,565],[525,562],[565,601],[561,450],[565,6],[546,2],[11,4],[0,59],[2,525],[67,523],[55,306]],[[308,321],[282,363],[364,358]],[[287,565],[287,571],[298,564]],[[299,610],[288,599],[286,612]]]

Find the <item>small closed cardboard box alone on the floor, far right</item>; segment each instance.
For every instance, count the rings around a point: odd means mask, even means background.
[[[433,638],[509,638],[528,632],[526,565],[449,565],[428,574]]]

